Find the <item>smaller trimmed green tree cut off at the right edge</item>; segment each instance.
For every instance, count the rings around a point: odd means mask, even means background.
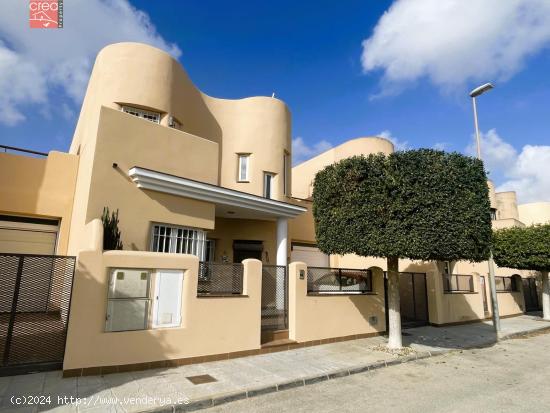
[[[550,223],[504,228],[494,232],[493,255],[499,267],[540,271],[542,314],[550,320]]]

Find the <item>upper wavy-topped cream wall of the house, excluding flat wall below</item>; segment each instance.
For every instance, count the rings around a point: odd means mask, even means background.
[[[291,121],[282,101],[207,96],[164,51],[139,43],[117,43],[97,56],[71,152],[89,140],[84,134],[97,123],[101,106],[120,109],[123,104],[160,112],[160,123],[166,127],[173,116],[184,132],[218,143],[219,185],[262,195],[263,173],[270,172],[275,174],[273,198],[284,200],[283,157],[291,151]],[[249,182],[237,182],[237,153],[251,154]]]

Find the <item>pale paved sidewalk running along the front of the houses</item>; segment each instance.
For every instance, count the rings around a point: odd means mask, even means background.
[[[504,338],[550,329],[550,322],[532,315],[504,319],[501,323]],[[61,372],[0,377],[0,412],[198,410],[442,352],[488,346],[494,343],[494,334],[490,322],[408,329],[404,331],[403,341],[412,351],[404,351],[403,355],[385,351],[385,341],[384,337],[374,337],[240,359],[103,377],[63,379]],[[210,375],[216,381],[193,384],[187,379],[200,375]],[[12,403],[12,396],[16,395],[50,396],[50,402],[44,399],[42,401],[45,404],[38,408],[16,408]],[[68,401],[70,397],[86,398],[88,405],[65,404],[65,400]]]

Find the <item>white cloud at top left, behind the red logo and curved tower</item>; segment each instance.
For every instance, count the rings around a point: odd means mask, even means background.
[[[53,89],[79,106],[95,55],[107,44],[136,41],[175,57],[181,54],[177,45],[157,33],[149,16],[127,0],[66,2],[62,29],[29,29],[29,3],[4,3],[0,14],[0,123],[5,125],[23,121],[30,104],[46,104]]]

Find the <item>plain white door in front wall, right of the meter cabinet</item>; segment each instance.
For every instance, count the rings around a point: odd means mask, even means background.
[[[182,271],[160,270],[157,273],[153,327],[179,327],[181,325],[182,288]]]

